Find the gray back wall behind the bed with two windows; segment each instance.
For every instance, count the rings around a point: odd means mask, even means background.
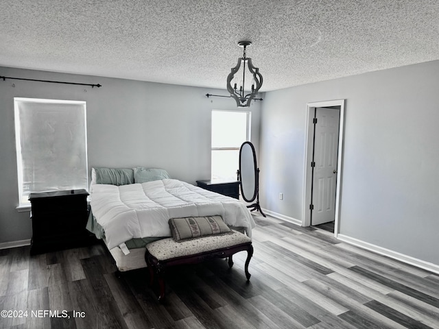
[[[102,84],[101,88],[0,81],[0,243],[30,239],[29,212],[17,212],[14,97],[87,102],[88,167],[159,167],[195,184],[211,175],[211,110],[237,110],[225,90],[0,67],[0,75]],[[224,77],[225,79],[225,77]],[[14,84],[14,86],[13,86]],[[260,102],[252,104],[259,144]]]

